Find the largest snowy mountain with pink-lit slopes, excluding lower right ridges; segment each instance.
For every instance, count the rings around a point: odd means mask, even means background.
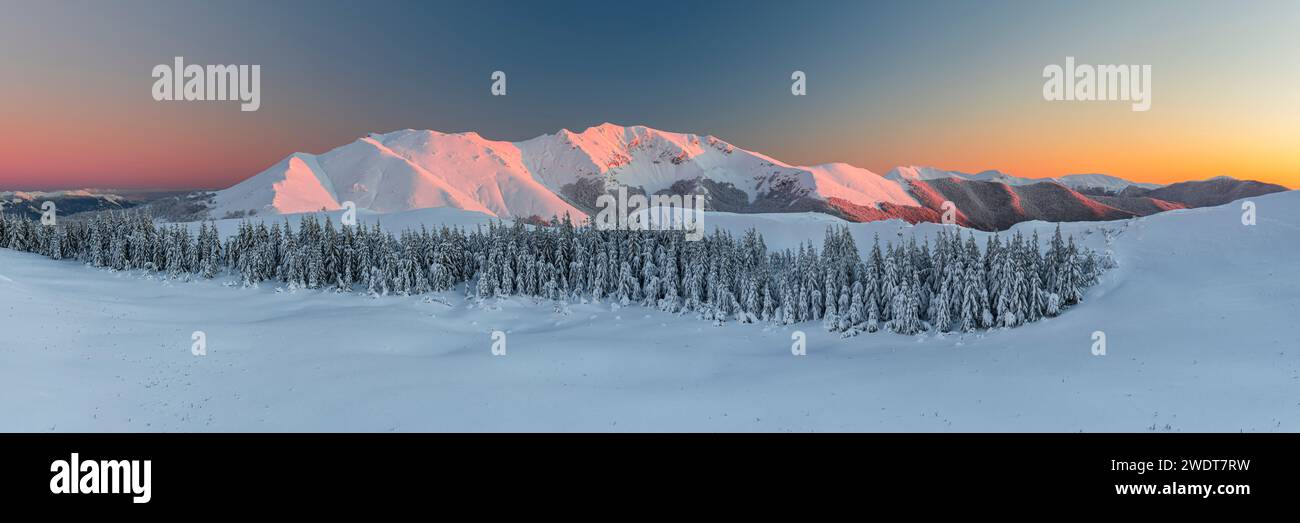
[[[715,211],[835,213],[832,199],[918,206],[904,185],[848,164],[798,167],[712,135],[604,122],[523,142],[474,131],[372,133],[321,155],[294,154],[218,191],[209,215],[454,207],[500,217],[581,219],[615,187],[699,194]]]

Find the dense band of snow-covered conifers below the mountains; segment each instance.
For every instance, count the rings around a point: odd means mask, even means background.
[[[768,251],[750,229],[688,242],[681,232],[598,230],[568,219],[551,226],[491,224],[464,230],[341,225],[312,215],[244,221],[221,238],[216,226],[156,224],[140,213],[103,213],[46,226],[0,220],[4,246],[114,271],[172,278],[234,275],[243,285],[334,289],[372,295],[463,290],[476,299],[528,295],[564,302],[608,301],[715,323],[818,321],[854,336],[888,329],[971,332],[1056,316],[1112,267],[1106,256],[1062,238],[1045,251],[1026,238],[940,230],[933,238],[880,243],[863,259],[845,228],[828,228],[820,250]]]

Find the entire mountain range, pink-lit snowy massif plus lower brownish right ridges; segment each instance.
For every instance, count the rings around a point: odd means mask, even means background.
[[[338,209],[400,212],[451,207],[508,219],[581,220],[597,196],[619,187],[644,194],[694,194],[712,211],[823,212],[853,221],[939,221],[942,203],[958,224],[1002,229],[1026,220],[1080,221],[1196,207],[1164,200],[1106,174],[1022,178],[997,170],[968,174],[900,167],[880,176],[849,164],[792,165],[712,135],[602,124],[523,142],[477,133],[399,130],[370,134],[329,152],[298,152],[217,191],[209,217]],[[1216,190],[1223,187],[1216,186]],[[1286,190],[1257,185],[1234,194]],[[1213,199],[1213,198],[1210,198]]]

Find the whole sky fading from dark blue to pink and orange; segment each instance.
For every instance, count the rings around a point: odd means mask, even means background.
[[[1296,27],[1294,0],[0,0],[0,190],[218,189],[370,131],[604,121],[878,173],[1300,187]],[[174,56],[261,65],[261,109],[155,101]],[[1150,111],[1045,101],[1066,56],[1152,65]]]

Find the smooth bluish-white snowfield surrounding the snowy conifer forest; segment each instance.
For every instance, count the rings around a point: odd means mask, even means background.
[[[945,337],[714,327],[608,303],[556,314],[459,294],[290,294],[0,250],[0,429],[1294,432],[1300,193],[1253,202],[1254,226],[1239,203],[1066,224],[1095,248],[1102,229],[1118,233],[1119,268],[1084,303]],[[706,221],[757,226],[774,247],[820,245],[829,222]],[[874,233],[940,225],[850,226],[868,248]],[[508,333],[504,356],[490,354],[494,329]],[[790,355],[794,329],[806,356]],[[191,355],[194,330],[207,356]],[[1105,356],[1091,353],[1095,330]]]

